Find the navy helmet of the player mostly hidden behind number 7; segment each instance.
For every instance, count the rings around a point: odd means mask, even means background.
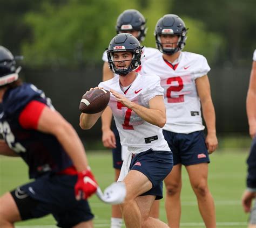
[[[138,10],[125,10],[117,18],[117,34],[128,30],[139,31],[137,39],[143,41],[146,35],[146,20]]]

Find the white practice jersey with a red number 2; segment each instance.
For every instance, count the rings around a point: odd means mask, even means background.
[[[167,118],[164,130],[176,133],[204,130],[195,80],[209,71],[205,57],[190,52],[181,52],[179,63],[174,66],[163,55],[144,63],[142,73],[154,72],[164,88]]]

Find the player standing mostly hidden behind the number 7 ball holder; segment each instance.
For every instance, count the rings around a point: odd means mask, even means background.
[[[136,37],[140,42],[142,42],[146,35],[146,20],[142,13],[138,10],[125,10],[117,18],[116,31],[119,33],[130,33]],[[142,63],[147,59],[152,58],[155,55],[161,55],[161,53],[156,48],[143,47],[142,48]],[[112,79],[114,73],[109,68],[109,62],[107,60],[106,51],[103,53],[102,60],[103,65],[103,81]],[[139,72],[140,67],[137,69]],[[112,148],[113,155],[113,167],[115,170],[115,180],[118,179],[120,174],[120,169],[122,167],[122,151],[125,153],[127,147],[121,147],[120,137],[115,125],[113,125],[111,130],[111,120],[112,112],[110,108],[107,108],[102,117],[102,141],[103,145],[108,148]],[[152,211],[153,217],[158,217],[158,210]],[[121,227],[122,225],[122,213],[118,205],[112,206],[112,218],[111,218],[112,228]]]

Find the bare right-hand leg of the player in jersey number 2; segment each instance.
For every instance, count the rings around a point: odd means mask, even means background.
[[[207,228],[216,227],[215,206],[208,189],[208,163],[186,166],[190,183],[197,196],[199,211]]]

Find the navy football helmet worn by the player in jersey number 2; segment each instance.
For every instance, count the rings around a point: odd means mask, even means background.
[[[176,48],[163,48],[161,44],[160,35],[163,34],[174,34],[179,36],[178,44]],[[164,15],[164,17],[160,18],[156,24],[156,28],[154,30],[154,35],[156,37],[156,46],[160,52],[172,55],[178,51],[181,51],[187,39],[187,28],[183,20],[177,15]]]

